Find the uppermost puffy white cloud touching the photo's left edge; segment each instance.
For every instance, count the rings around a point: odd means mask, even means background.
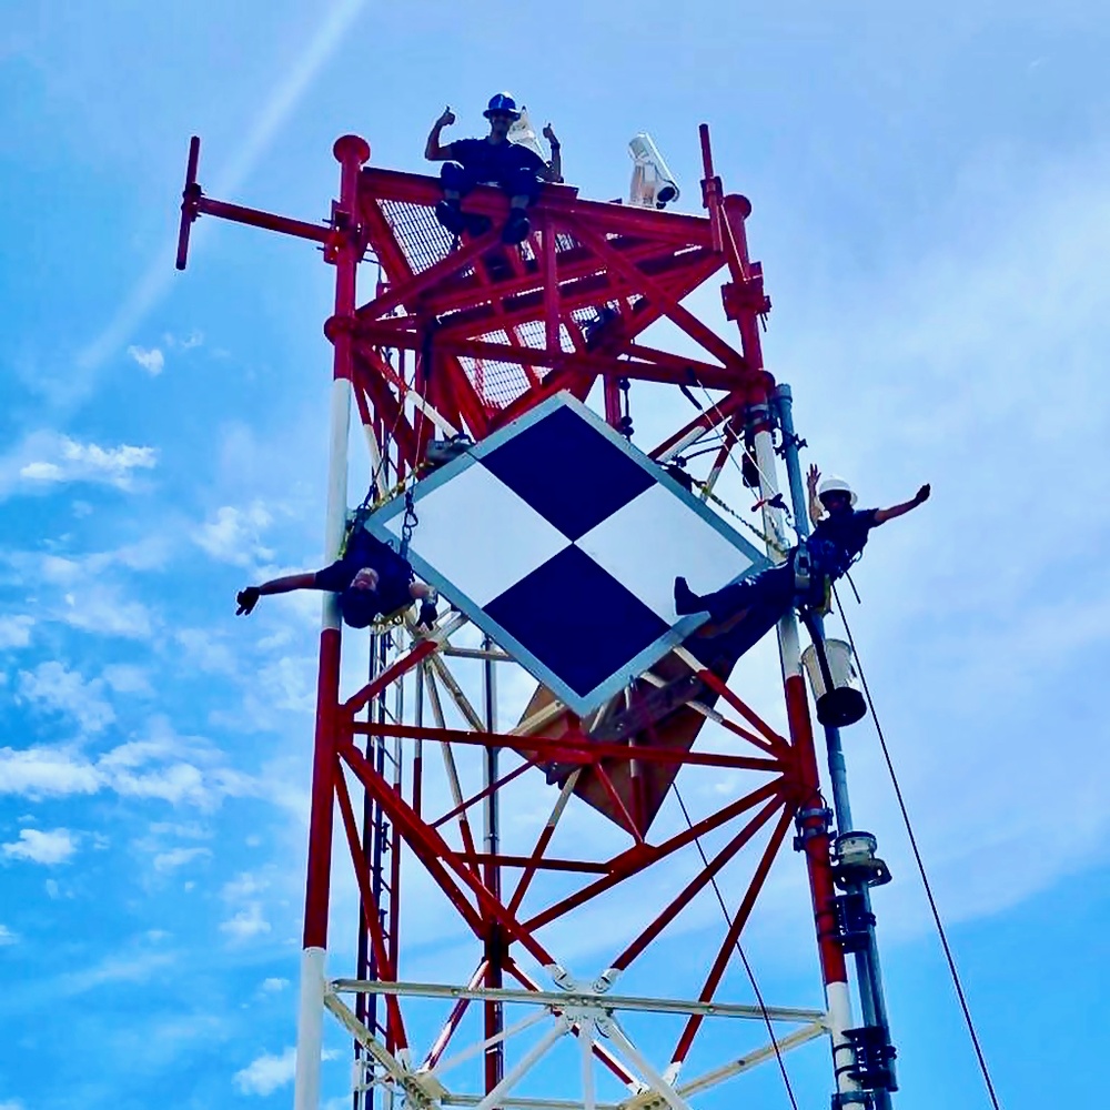
[[[57,432],[37,432],[0,458],[0,492],[7,492],[19,482],[31,486],[93,482],[131,490],[135,472],[153,470],[157,465],[154,447],[127,443],[102,447]]]

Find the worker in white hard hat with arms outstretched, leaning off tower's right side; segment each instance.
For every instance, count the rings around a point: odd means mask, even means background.
[[[818,485],[818,483],[820,483]],[[715,625],[743,624],[747,646],[778,623],[795,606],[819,607],[826,582],[836,582],[862,554],[871,528],[902,516],[928,501],[930,487],[921,486],[910,501],[891,508],[855,508],[856,494],[844,478],[809,467],[809,517],[814,531],[777,566],[733,583],[712,594],[695,594],[685,578],[675,578],[675,609],[679,615],[708,613]]]

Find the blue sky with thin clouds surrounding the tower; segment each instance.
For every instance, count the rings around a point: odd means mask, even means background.
[[[808,457],[869,504],[934,483],[876,535],[849,618],[1002,1103],[1089,1100],[1110,910],[1108,39],[1073,2],[9,4],[0,1108],[291,1100],[317,607],[236,622],[232,598],[321,557],[332,275],[304,244],[211,222],[175,274],[188,138],[213,195],[314,220],[336,135],[418,169],[444,103],[462,135],[503,88],[601,199],[646,128],[696,211],[708,121],[755,206],[768,364]],[[726,327],[712,290],[690,305]],[[766,650],[740,675],[773,670]],[[897,1104],[942,1088],[976,1110],[874,733],[846,743],[898,879],[876,896]],[[768,992],[807,1005],[796,865],[750,944]],[[413,929],[436,967],[434,922]],[[827,1104],[824,1048],[789,1063]],[[337,1059],[335,1106],[345,1077]]]

